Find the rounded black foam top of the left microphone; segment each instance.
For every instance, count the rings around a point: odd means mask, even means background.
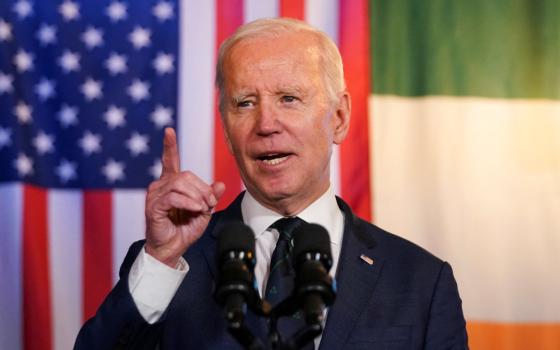
[[[253,230],[242,222],[225,226],[218,235],[218,258],[231,251],[255,252]]]

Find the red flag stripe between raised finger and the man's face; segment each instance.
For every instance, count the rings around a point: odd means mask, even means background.
[[[237,27],[243,24],[242,0],[218,0],[216,4],[216,53],[224,39],[231,35]],[[226,192],[216,207],[225,208],[231,203],[241,190],[241,177],[235,164],[235,159],[229,153],[222,131],[222,121],[218,109],[218,94],[216,92],[214,104],[214,179],[226,184]]]

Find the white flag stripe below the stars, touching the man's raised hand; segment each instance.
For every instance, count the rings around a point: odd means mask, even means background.
[[[144,190],[113,191],[113,282],[130,245],[145,236]]]

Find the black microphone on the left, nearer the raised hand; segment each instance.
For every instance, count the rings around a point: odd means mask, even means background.
[[[256,307],[259,295],[255,268],[255,235],[239,222],[225,227],[218,237],[218,279],[214,298],[225,309],[228,324],[241,327],[249,308]]]

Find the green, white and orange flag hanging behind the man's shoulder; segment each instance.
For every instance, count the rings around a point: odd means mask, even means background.
[[[370,3],[374,221],[449,260],[473,349],[560,349],[560,3]]]

